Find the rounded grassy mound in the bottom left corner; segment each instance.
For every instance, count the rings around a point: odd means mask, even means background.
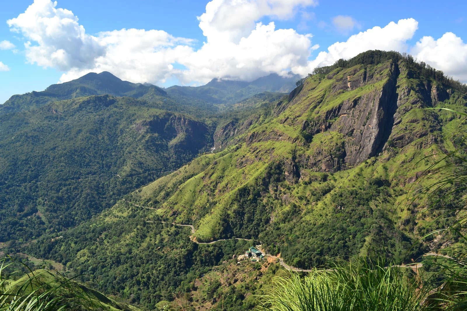
[[[7,260],[1,262],[0,311],[99,310],[95,297],[77,282],[45,270],[29,270],[22,276],[17,264]],[[21,273],[22,277],[9,280],[5,277],[7,270],[13,270],[13,276]]]

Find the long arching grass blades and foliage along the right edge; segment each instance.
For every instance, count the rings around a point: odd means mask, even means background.
[[[467,117],[466,113],[461,113],[448,108],[443,109],[452,113]],[[462,121],[466,122],[466,119]],[[434,175],[438,177],[437,181],[417,190],[419,195],[425,198],[435,198],[434,204],[430,206],[429,211],[435,209],[435,204],[440,201],[450,201],[460,197],[462,204],[455,209],[455,222],[448,227],[440,228],[431,234],[453,233],[458,237],[458,243],[441,249],[443,253],[449,254],[446,257],[439,257],[436,264],[439,273],[443,275],[441,285],[432,299],[439,310],[464,311],[467,310],[467,208],[465,204],[465,192],[467,190],[467,136],[465,132],[453,134],[452,140],[456,145],[456,150],[444,155],[438,162],[425,170],[425,177]],[[440,163],[445,163],[439,165]],[[464,194],[463,196],[461,196]],[[444,211],[435,221],[448,218],[452,212]]]

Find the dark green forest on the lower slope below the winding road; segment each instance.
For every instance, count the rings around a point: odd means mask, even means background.
[[[160,301],[173,300],[174,293],[189,304],[197,279],[219,265],[236,262],[236,256],[255,244],[226,240],[202,245],[193,243],[188,233],[187,228],[161,223],[157,216],[149,216],[148,210],[120,201],[99,217],[68,230],[63,238],[40,240],[28,251],[64,263],[67,270],[82,275],[83,281],[98,284],[100,291],[151,309]],[[260,266],[242,269],[258,271]],[[269,278],[276,270],[271,269]],[[258,284],[252,282],[252,288],[216,284],[208,289],[201,286],[206,293],[198,299],[212,303],[222,291],[233,291],[235,296],[224,307],[247,310],[254,306],[254,297],[247,300],[249,303],[244,298]]]

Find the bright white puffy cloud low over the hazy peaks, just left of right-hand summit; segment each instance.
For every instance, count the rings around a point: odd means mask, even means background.
[[[256,28],[233,42],[207,42],[201,49],[180,60],[188,68],[182,82],[191,79],[209,81],[213,77],[253,80],[272,72],[287,75],[292,66],[306,66],[311,49],[311,35],[293,29],[275,29],[273,22],[258,23]]]

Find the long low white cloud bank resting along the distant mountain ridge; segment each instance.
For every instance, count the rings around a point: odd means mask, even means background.
[[[276,72],[287,75],[291,66],[307,64],[311,35],[293,29],[276,29],[273,22],[256,28],[233,42],[210,41],[194,50],[191,40],[174,38],[164,31],[122,29],[99,35],[107,47],[105,56],[95,59],[90,69],[72,69],[61,81],[78,78],[91,71],[110,71],[130,81],[165,82],[177,77],[184,84],[207,83],[212,78],[253,80]],[[186,69],[174,69],[174,63]]]

